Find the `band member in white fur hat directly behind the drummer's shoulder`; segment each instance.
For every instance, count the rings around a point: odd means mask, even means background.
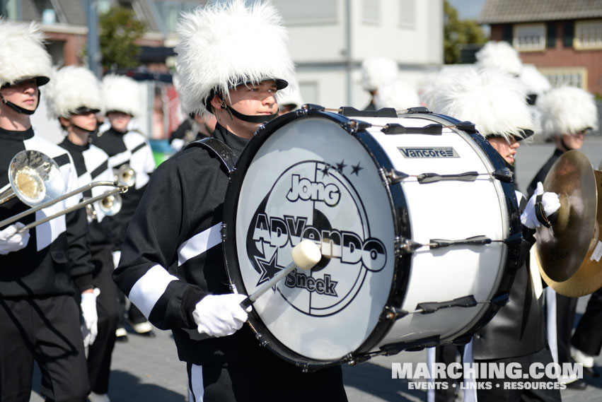
[[[129,167],[135,175],[134,185],[129,187],[127,193],[122,194],[123,204],[120,213],[112,219],[120,227],[113,250],[113,261],[117,266],[127,225],[134,215],[151,173],[155,170],[155,161],[149,140],[139,132],[127,128],[130,120],[141,114],[138,83],[126,76],[110,74],[103,78],[101,90],[103,109],[110,122],[110,129],[95,136],[93,144],[108,153],[109,163],[112,167],[115,169]],[[120,305],[117,339],[126,341],[125,297],[123,295],[120,295]],[[134,331],[144,336],[154,336],[153,326],[136,306],[130,305],[127,318]]]

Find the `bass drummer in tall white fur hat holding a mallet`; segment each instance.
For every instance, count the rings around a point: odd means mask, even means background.
[[[177,32],[185,110],[214,114],[212,138],[239,155],[276,116],[293,71],[279,14],[269,3],[229,1],[184,14]],[[173,332],[190,401],[347,401],[340,367],[303,373],[244,325],[245,295],[228,290],[221,249],[227,186],[220,158],[201,146],[159,165],[129,225],[117,285]]]

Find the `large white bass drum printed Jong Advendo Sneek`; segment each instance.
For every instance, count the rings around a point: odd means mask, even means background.
[[[510,272],[513,271],[508,266],[515,265],[512,261],[513,257],[509,257],[510,254],[515,254],[515,250],[503,243],[490,244],[487,247],[469,246],[461,247],[461,249],[427,250],[426,252],[421,250],[407,255],[396,254],[399,247],[398,242],[402,238],[429,242],[430,238],[460,239],[474,235],[487,235],[493,239],[509,237],[519,230],[519,225],[516,225],[514,191],[510,184],[498,182],[490,176],[477,179],[475,181],[477,183],[472,184],[472,190],[470,190],[471,184],[468,182],[417,184],[416,179],[407,179],[391,184],[385,175],[385,172],[390,170],[400,170],[410,175],[437,170],[443,173],[465,170],[492,172],[503,167],[503,164],[479,134],[468,134],[451,128],[444,129],[440,136],[424,134],[400,136],[381,132],[381,127],[391,122],[408,126],[424,126],[433,122],[453,125],[455,120],[449,117],[435,114],[412,114],[398,119],[362,118],[361,121],[369,124],[360,124],[358,129],[357,126],[353,127],[354,120],[347,117],[308,110],[285,115],[277,121],[267,124],[265,129],[260,130],[250,141],[248,148],[245,149],[238,161],[237,170],[231,178],[230,187],[228,187],[225,211],[236,211],[236,213],[224,216],[226,225],[224,252],[228,274],[239,292],[248,294],[253,292],[255,287],[255,283],[253,283],[256,281],[255,278],[245,280],[243,276],[260,275],[256,267],[257,261],[250,261],[246,250],[253,241],[257,242],[257,238],[249,237],[249,223],[257,218],[258,206],[262,205],[262,211],[265,212],[266,206],[270,205],[272,196],[266,197],[265,194],[280,191],[282,199],[282,195],[286,191],[275,190],[279,180],[282,181],[284,173],[289,172],[291,168],[303,165],[303,161],[312,160],[316,163],[316,172],[319,171],[318,165],[325,170],[322,178],[318,174],[315,175],[314,184],[310,183],[311,180],[306,180],[305,184],[312,186],[317,186],[316,183],[320,182],[319,179],[326,177],[329,171],[335,175],[338,167],[341,175],[337,180],[342,182],[345,179],[349,182],[349,194],[356,191],[355,196],[349,195],[347,201],[355,200],[353,201],[355,205],[364,207],[364,220],[370,222],[371,229],[380,226],[386,227],[385,229],[381,228],[381,232],[376,237],[380,239],[388,252],[387,266],[380,271],[366,270],[366,275],[361,278],[361,281],[364,283],[368,278],[366,283],[373,287],[371,292],[364,292],[370,295],[370,297],[366,296],[369,302],[358,303],[357,301],[363,297],[358,291],[354,297],[350,297],[351,301],[347,306],[352,305],[355,300],[356,304],[361,307],[347,317],[340,321],[332,318],[342,312],[345,314],[344,310],[349,307],[336,311],[335,309],[325,310],[328,314],[321,316],[318,314],[314,317],[316,322],[295,327],[295,324],[299,322],[298,317],[295,316],[295,314],[299,314],[299,307],[294,305],[294,297],[287,299],[288,296],[283,294],[282,289],[286,290],[286,284],[257,301],[254,312],[250,315],[250,322],[257,332],[258,338],[284,359],[305,367],[316,368],[338,364],[359,355],[374,353],[386,345],[395,345],[395,348],[403,350],[417,345],[429,345],[429,343],[448,343],[470,336],[492,317],[496,307],[491,305],[479,305],[473,309],[452,307],[434,314],[409,314],[396,321],[386,319],[386,312],[390,309],[403,309],[411,312],[417,308],[417,304],[420,302],[442,302],[465,295],[474,295],[480,301],[490,300],[500,293],[507,292],[511,282]],[[370,124],[372,125],[370,126]],[[286,133],[283,133],[283,130]],[[308,135],[307,133],[312,134]],[[330,144],[332,142],[335,143],[334,146]],[[279,144],[276,145],[277,143]],[[428,163],[424,160],[409,162],[403,159],[399,149],[412,148],[416,144],[444,148],[450,143],[452,147],[458,148],[457,152],[469,155],[468,159],[462,162],[463,158],[456,158],[453,166],[446,165],[449,164],[448,160],[439,161],[439,165],[433,163],[432,160],[429,160]],[[347,157],[342,154],[341,148],[344,148],[345,155],[349,155],[351,158],[347,159],[347,162],[345,162]],[[307,155],[300,156],[300,153]],[[363,155],[361,158],[357,157],[361,161],[353,162],[352,159],[359,154]],[[332,158],[332,155],[337,155],[337,157]],[[269,163],[266,162],[267,164],[264,165],[263,162],[260,162],[261,160],[269,161]],[[275,168],[267,169],[270,164]],[[330,165],[330,170],[325,169],[327,165]],[[361,167],[361,169],[354,172],[355,167]],[[262,175],[262,169],[270,170],[270,172]],[[370,170],[370,179],[366,181],[364,177],[364,184],[361,186],[369,187],[357,191],[356,187],[359,184],[354,184],[355,182],[352,180],[355,176],[359,177],[361,173],[366,173],[368,170]],[[303,178],[299,175],[297,185],[302,180]],[[370,184],[366,184],[366,182]],[[291,183],[291,189],[294,187],[293,183]],[[328,184],[325,184],[324,188],[327,187]],[[476,189],[477,187],[479,189]],[[358,195],[360,193],[363,195]],[[378,194],[378,196],[372,196],[371,201],[367,201],[367,199],[362,199],[362,197],[366,198],[366,194]],[[482,200],[483,194],[485,194],[485,201]],[[378,198],[378,200],[375,201],[374,198]],[[241,202],[243,200],[244,203]],[[297,195],[295,201],[299,200]],[[368,204],[369,207],[366,206]],[[360,209],[357,208],[357,210]],[[368,211],[370,209],[374,209],[374,211]],[[292,216],[292,214],[287,215],[284,206],[272,205],[272,211],[277,210],[283,210],[279,212],[279,218]],[[248,211],[255,211],[255,215]],[[324,211],[318,212],[320,216],[327,215]],[[262,225],[270,227],[267,215],[269,214],[264,214],[265,222]],[[301,215],[303,214],[301,213]],[[313,215],[316,215],[315,211]],[[357,213],[357,215],[360,217],[358,219],[362,220],[362,213]],[[372,218],[373,216],[378,216],[378,218]],[[340,225],[346,225],[347,218],[337,222]],[[477,224],[471,225],[470,218],[476,218]],[[376,222],[373,223],[374,219]],[[281,225],[283,220],[280,220]],[[357,225],[351,229],[349,227],[337,228],[337,225],[332,225],[331,222],[336,221],[336,218],[326,220],[329,223],[329,230],[335,229],[331,232],[337,232],[337,229],[339,232],[352,234],[358,232]],[[274,222],[278,221],[274,220]],[[257,220],[254,223],[256,224]],[[295,222],[293,219],[292,224],[288,226],[289,229],[296,227],[295,223],[299,224],[299,220]],[[431,231],[429,231],[429,227],[432,229]],[[435,230],[438,227],[443,230]],[[363,240],[370,238],[370,236],[366,236],[366,233],[371,230],[362,229],[359,232],[362,232],[359,237],[363,237]],[[349,235],[349,238],[354,237]],[[316,241],[323,244],[318,239]],[[240,244],[245,244],[245,246],[240,247]],[[294,245],[292,242],[288,244],[288,249],[292,245]],[[253,247],[251,246],[251,248]],[[286,259],[285,254],[286,247],[283,247],[282,254],[276,258],[278,266],[282,266],[281,260]],[[480,258],[483,261],[479,262]],[[487,260],[487,264],[485,264],[485,260]],[[243,262],[241,263],[241,261]],[[270,263],[270,261],[263,262]],[[483,268],[484,266],[486,269]],[[493,267],[487,268],[489,266]],[[341,281],[336,280],[334,276],[336,270],[329,271],[330,269],[331,267],[328,265],[323,268],[323,272],[328,272],[330,276],[330,283],[325,282],[326,274],[323,274],[324,276],[318,274],[316,278],[323,280],[322,286],[325,288],[328,288],[329,284],[332,288],[332,281],[336,281],[338,287]],[[482,273],[480,271],[485,271],[486,280],[480,280],[479,275]],[[351,271],[347,271],[347,273],[349,272]],[[463,275],[465,278],[462,277]],[[375,279],[377,276],[383,278]],[[450,280],[453,276],[458,279],[458,285],[454,285],[453,280]],[[357,280],[359,278],[357,276]],[[289,282],[292,283],[293,280],[289,280]],[[479,285],[479,283],[481,284]],[[294,285],[299,284],[294,283]],[[300,291],[297,288],[297,291],[309,292],[307,287]],[[272,312],[270,313],[270,311]],[[284,324],[274,325],[274,322],[279,320],[282,320]],[[360,324],[349,324],[349,327],[345,328],[349,322]],[[318,331],[319,333],[316,335],[316,331],[308,329],[311,326],[323,329],[323,331]],[[283,332],[290,334],[283,334]],[[359,333],[359,335],[354,337],[349,336],[349,333]],[[290,339],[284,339],[287,337]],[[352,340],[349,341],[349,339]],[[345,342],[348,344],[345,345]],[[309,346],[305,347],[303,343]],[[341,344],[343,344],[343,348],[337,346]]]

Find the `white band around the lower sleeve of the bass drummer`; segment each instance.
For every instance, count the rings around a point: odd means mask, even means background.
[[[156,265],[134,283],[127,297],[140,309],[144,317],[149,318],[157,300],[163,295],[172,280],[178,280],[178,278],[170,275],[166,268]]]

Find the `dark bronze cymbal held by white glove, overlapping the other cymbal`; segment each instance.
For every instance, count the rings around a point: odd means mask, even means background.
[[[538,227],[537,252],[546,276],[562,282],[577,273],[594,237],[598,196],[589,159],[578,150],[563,153],[545,177],[543,189],[558,194],[560,209],[552,227]]]

